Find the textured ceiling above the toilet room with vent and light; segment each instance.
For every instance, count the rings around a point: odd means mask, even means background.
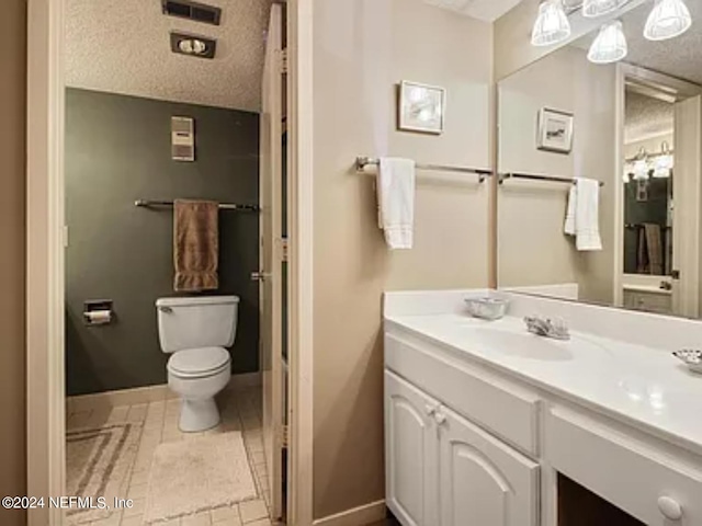
[[[270,0],[207,0],[223,9],[219,26],[166,16],[160,0],[66,3],[67,85],[260,111]],[[170,31],[216,38],[217,56],[171,53]]]

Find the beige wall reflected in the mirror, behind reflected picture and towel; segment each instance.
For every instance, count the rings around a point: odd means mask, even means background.
[[[604,251],[582,253],[563,232],[569,186],[506,182],[499,188],[500,287],[578,283],[580,297],[612,301],[616,159],[614,66],[590,64],[565,47],[499,83],[499,171],[604,181],[600,233]],[[575,114],[570,155],[536,149],[542,107]]]

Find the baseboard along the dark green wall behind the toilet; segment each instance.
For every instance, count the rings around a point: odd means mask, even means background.
[[[246,373],[233,375],[227,390],[240,391],[261,386],[261,373]],[[66,412],[77,413],[94,409],[112,409],[120,405],[134,405],[136,403],[158,402],[178,398],[178,395],[168,388],[167,384],[135,389],[121,389],[118,391],[95,392],[93,395],[80,395],[66,398]]]

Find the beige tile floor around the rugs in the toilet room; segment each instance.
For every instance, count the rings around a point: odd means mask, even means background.
[[[138,526],[143,524],[146,505],[146,491],[151,465],[151,455],[156,447],[165,442],[188,441],[197,436],[215,433],[241,431],[244,443],[253,472],[257,490],[261,499],[241,502],[233,507],[218,508],[191,515],[180,519],[159,523],[158,526],[272,526],[269,517],[270,488],[263,458],[261,434],[261,389],[225,391],[217,399],[222,413],[222,423],[204,433],[181,433],[178,428],[180,412],[178,399],[150,403],[124,405],[111,410],[80,411],[67,414],[68,430],[78,427],[99,427],[105,423],[141,422],[143,430],[139,448],[125,480],[128,499],[134,507],[113,512],[107,519],[87,523],[81,526]]]

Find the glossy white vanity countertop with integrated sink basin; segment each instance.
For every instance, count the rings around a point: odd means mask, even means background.
[[[526,332],[521,318],[461,313],[385,317],[387,327],[449,345],[534,387],[702,455],[702,375],[670,352],[571,331],[569,342]]]

